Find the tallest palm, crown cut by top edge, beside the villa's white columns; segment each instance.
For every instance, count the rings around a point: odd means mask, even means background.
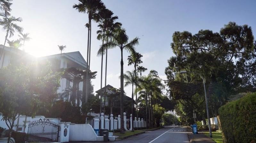
[[[88,100],[88,82],[89,82],[89,71],[90,71],[90,51],[91,51],[91,22],[93,19],[93,16],[98,12],[101,11],[103,9],[105,9],[105,5],[103,4],[103,2],[101,0],[78,0],[79,3],[78,4],[74,4],[73,8],[75,8],[76,10],[78,10],[78,12],[82,12],[82,13],[87,13],[88,14],[88,21],[89,23],[86,24],[87,28],[88,28],[88,39],[87,39],[87,67],[86,67],[86,77],[87,77],[87,81],[86,81],[86,99],[85,102],[87,102]],[[89,60],[89,62],[88,62]]]

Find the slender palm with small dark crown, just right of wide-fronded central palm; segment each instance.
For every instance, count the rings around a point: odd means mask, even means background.
[[[137,77],[137,72],[136,72],[136,67],[142,63],[141,58],[143,55],[139,54],[138,52],[132,53],[131,55],[128,56],[128,66],[134,65],[134,74],[135,77]],[[137,83],[137,81],[135,81]],[[137,84],[135,85],[137,88]],[[137,111],[138,105],[137,105],[137,92],[136,92],[136,117],[138,118],[138,111]]]

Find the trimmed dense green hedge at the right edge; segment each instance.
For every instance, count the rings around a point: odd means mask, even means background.
[[[221,106],[219,119],[224,142],[256,143],[256,93]]]

